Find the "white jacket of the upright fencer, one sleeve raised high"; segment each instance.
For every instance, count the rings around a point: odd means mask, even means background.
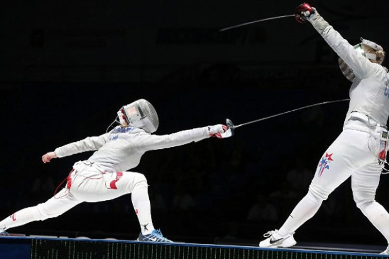
[[[389,116],[389,74],[383,66],[372,63],[357,52],[334,28],[318,14],[309,19],[328,45],[353,70],[350,105],[345,124],[355,113],[365,115],[371,124],[386,125]]]

